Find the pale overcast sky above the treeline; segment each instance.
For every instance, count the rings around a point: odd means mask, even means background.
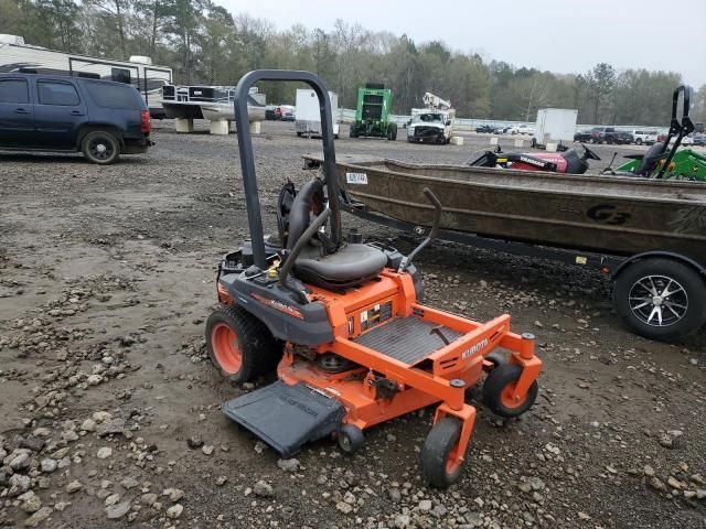
[[[442,40],[453,50],[556,73],[607,62],[617,69],[677,72],[706,84],[706,0],[215,0],[278,29],[367,30]]]

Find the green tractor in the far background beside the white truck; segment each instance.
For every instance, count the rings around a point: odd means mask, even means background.
[[[351,138],[374,137],[397,139],[397,123],[389,121],[393,93],[385,85],[368,83],[357,89],[355,122],[351,123]]]

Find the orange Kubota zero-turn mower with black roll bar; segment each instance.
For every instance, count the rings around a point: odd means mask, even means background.
[[[309,84],[319,97],[323,175],[298,192],[285,185],[277,205],[279,240],[265,238],[247,120],[247,95],[259,80]],[[308,72],[256,71],[236,87],[236,123],[250,239],[218,270],[221,307],[208,317],[214,364],[236,382],[277,371],[278,381],[224,402],[225,414],[284,457],[334,436],[343,452],[365,429],[436,404],[421,450],[425,483],[447,487],[461,473],[475,408],[467,390],[483,382],[485,404],[518,417],[535,401],[542,361],[534,336],[510,331],[510,316],[475,323],[425,306],[414,256],[341,235],[331,104]],[[498,348],[509,355],[491,353]]]

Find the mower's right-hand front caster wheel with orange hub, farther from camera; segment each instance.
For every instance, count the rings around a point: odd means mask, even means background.
[[[513,399],[515,385],[521,376],[522,366],[517,364],[502,364],[490,371],[483,384],[483,402],[493,413],[510,419],[522,415],[534,404],[539,391],[536,380],[530,386],[524,399]]]

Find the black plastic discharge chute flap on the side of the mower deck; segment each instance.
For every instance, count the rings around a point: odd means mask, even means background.
[[[224,402],[223,412],[282,457],[339,430],[345,415],[339,401],[301,382],[288,386],[282,381]]]

